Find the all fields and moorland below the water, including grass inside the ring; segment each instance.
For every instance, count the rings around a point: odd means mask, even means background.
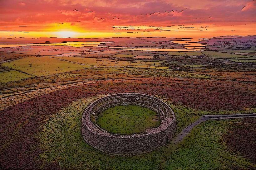
[[[143,93],[166,102],[177,118],[175,135],[203,115],[255,113],[255,55],[242,54],[255,50],[29,46],[2,51],[1,169],[256,168],[255,118],[205,121],[181,143],[137,156],[103,153],[81,135],[86,106],[114,93]],[[97,123],[113,133],[140,133],[160,123],[145,109],[112,107]]]

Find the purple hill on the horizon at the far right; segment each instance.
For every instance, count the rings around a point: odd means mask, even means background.
[[[214,37],[198,43],[208,44],[207,48],[256,50],[256,35]]]

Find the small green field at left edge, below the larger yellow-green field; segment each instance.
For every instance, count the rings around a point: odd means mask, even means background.
[[[17,70],[8,70],[0,72],[0,83],[8,83],[30,77],[32,76],[25,73],[21,73]]]

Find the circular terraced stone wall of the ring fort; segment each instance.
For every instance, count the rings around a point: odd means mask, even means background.
[[[138,105],[157,112],[161,124],[140,134],[117,135],[101,129],[96,119],[102,111],[119,105]],[[139,93],[121,93],[102,97],[91,103],[82,116],[82,135],[94,148],[116,155],[136,155],[165,145],[176,130],[174,112],[156,97]]]

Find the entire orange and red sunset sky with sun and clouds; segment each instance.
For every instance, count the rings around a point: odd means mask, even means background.
[[[1,0],[0,37],[255,35],[252,0]]]

